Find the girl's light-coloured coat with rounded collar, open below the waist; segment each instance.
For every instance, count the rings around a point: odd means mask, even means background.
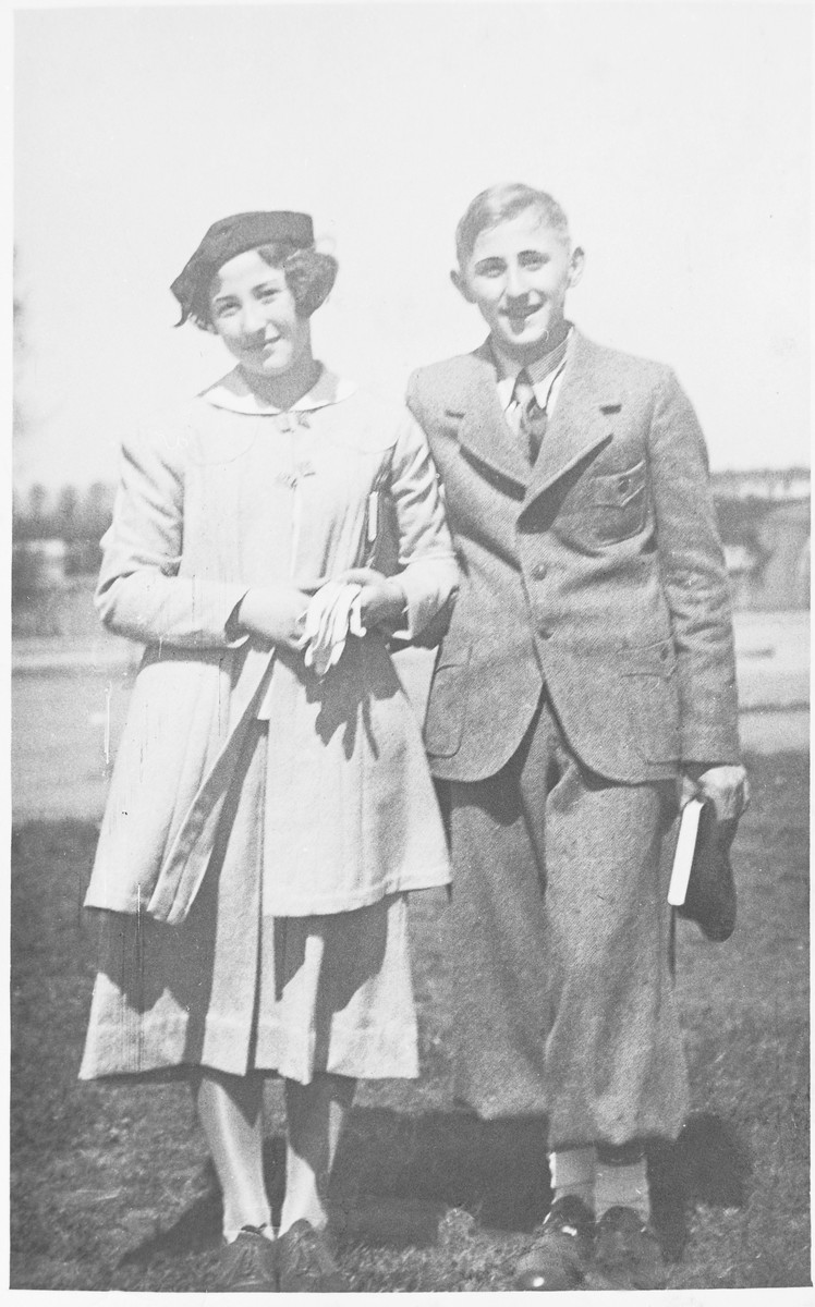
[[[339,912],[446,884],[415,714],[383,638],[351,639],[324,681],[302,655],[230,639],[252,586],[314,586],[364,561],[372,495],[392,499],[408,630],[458,571],[413,418],[323,371],[292,416],[235,371],[124,446],[97,605],[148,648],[115,762],[86,904],[186,918],[243,732],[269,716],[263,903]]]

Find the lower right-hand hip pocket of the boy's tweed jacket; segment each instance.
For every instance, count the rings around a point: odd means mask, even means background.
[[[621,651],[633,742],[649,762],[678,762],[679,690],[671,639]]]

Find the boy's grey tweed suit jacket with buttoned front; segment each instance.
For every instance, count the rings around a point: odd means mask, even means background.
[[[415,372],[408,404],[463,572],[428,706],[433,772],[494,775],[544,684],[606,778],[737,762],[727,575],[702,434],[671,370],[576,332],[534,468],[488,344]]]

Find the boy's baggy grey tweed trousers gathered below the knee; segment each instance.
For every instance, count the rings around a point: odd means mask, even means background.
[[[583,769],[544,695],[509,763],[450,782],[442,804],[457,1097],[484,1117],[547,1116],[549,1149],[675,1138],[688,1108],[663,851],[675,783]]]

